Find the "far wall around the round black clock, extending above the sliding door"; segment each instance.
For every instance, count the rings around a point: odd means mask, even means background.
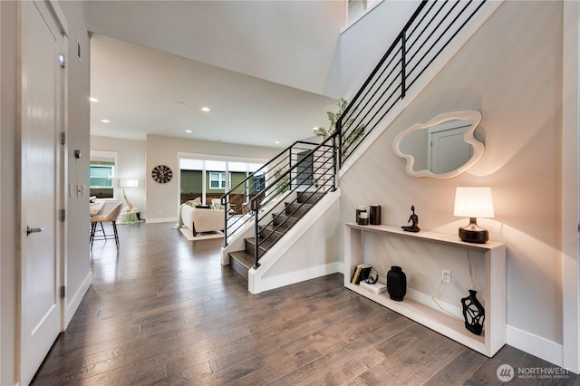
[[[174,137],[147,136],[147,220],[149,222],[177,221],[179,210],[178,153],[196,153],[226,156],[238,159],[272,159],[279,149],[229,143],[183,140]],[[173,171],[173,179],[159,184],[150,178],[157,165],[166,165]]]

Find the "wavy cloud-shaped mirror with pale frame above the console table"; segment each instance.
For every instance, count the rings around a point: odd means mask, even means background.
[[[484,144],[474,135],[479,121],[479,111],[447,112],[403,130],[392,149],[407,159],[405,171],[410,176],[450,179],[483,156]]]

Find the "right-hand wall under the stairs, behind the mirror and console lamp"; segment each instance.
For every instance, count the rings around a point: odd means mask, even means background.
[[[501,5],[340,181],[343,221],[353,221],[359,204],[378,203],[383,223],[405,225],[414,205],[423,230],[447,234],[466,221],[452,216],[455,188],[490,186],[496,217],[478,222],[507,243],[508,343],[556,364],[563,343],[561,44],[561,3]],[[391,150],[394,137],[459,110],[482,112],[483,158],[455,179],[406,175]],[[440,269],[432,275],[438,280]]]

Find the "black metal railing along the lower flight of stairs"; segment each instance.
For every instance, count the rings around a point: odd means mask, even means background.
[[[256,224],[262,217],[270,215],[271,212],[265,210],[265,207],[272,205],[287,192],[312,190],[313,187],[319,188],[321,192],[334,189],[336,162],[333,146],[329,143],[333,143],[333,138],[324,140],[322,144],[296,141],[262,168],[251,173],[247,179],[230,188],[221,197],[226,224],[224,246],[248,221],[256,221],[258,214],[260,216]]]

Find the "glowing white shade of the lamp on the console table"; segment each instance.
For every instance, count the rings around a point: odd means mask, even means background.
[[[457,217],[495,217],[491,188],[459,187],[455,192],[453,216]]]

